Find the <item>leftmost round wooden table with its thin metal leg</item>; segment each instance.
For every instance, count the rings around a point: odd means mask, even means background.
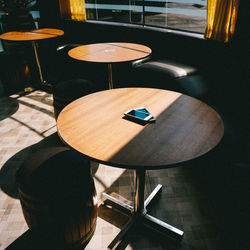
[[[37,63],[38,70],[39,70],[40,82],[42,85],[47,85],[46,81],[44,81],[44,78],[43,78],[42,69],[41,69],[38,52],[37,52],[36,41],[49,39],[49,38],[55,38],[58,36],[62,36],[63,34],[64,34],[64,31],[59,30],[59,29],[44,28],[44,29],[37,29],[37,30],[30,30],[30,31],[6,32],[0,35],[0,39],[8,40],[8,41],[19,41],[19,42],[31,41],[33,49],[34,49],[34,53],[35,53],[36,63]]]

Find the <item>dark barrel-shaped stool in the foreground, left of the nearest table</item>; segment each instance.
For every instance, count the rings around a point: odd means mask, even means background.
[[[84,248],[94,234],[97,197],[90,162],[67,147],[31,154],[17,171],[23,215],[69,249]]]

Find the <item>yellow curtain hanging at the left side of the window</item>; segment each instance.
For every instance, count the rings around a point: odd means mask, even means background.
[[[59,0],[60,12],[63,18],[85,21],[86,10],[84,0]]]

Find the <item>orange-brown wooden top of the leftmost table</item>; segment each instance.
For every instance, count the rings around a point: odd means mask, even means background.
[[[9,41],[35,41],[62,36],[64,31],[59,29],[38,29],[30,31],[11,31],[0,35],[0,39]]]

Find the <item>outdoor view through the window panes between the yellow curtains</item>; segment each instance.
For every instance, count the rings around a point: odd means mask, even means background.
[[[85,0],[88,20],[204,33],[207,0]]]

